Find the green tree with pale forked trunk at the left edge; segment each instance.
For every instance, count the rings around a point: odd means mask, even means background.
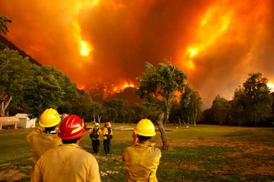
[[[8,48],[0,50],[0,62],[0,116],[5,116],[8,107],[23,107],[25,83],[32,81],[36,65]]]

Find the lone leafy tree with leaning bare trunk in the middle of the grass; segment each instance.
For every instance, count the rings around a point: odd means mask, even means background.
[[[188,79],[186,74],[177,66],[173,66],[167,60],[166,63],[160,63],[158,68],[154,68],[152,64],[146,62],[146,71],[142,77],[137,79],[140,84],[136,90],[140,99],[145,99],[149,105],[156,107],[162,113],[157,125],[161,133],[164,150],[169,149],[169,144],[162,121],[169,122],[172,103],[177,99],[175,92],[182,93],[184,86],[186,86],[186,79]]]

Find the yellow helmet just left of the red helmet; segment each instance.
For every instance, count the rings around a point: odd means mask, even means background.
[[[54,127],[59,124],[61,117],[55,109],[45,109],[41,114],[39,125],[41,127]]]

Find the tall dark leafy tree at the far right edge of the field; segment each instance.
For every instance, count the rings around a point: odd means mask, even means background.
[[[243,83],[242,88],[234,92],[234,102],[242,109],[245,122],[253,122],[257,126],[271,114],[273,98],[268,79],[262,77],[262,73],[249,73],[249,78]]]

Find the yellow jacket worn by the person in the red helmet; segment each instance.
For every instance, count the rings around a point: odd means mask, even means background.
[[[93,155],[77,144],[62,144],[49,149],[34,168],[34,181],[99,182],[99,166]]]

